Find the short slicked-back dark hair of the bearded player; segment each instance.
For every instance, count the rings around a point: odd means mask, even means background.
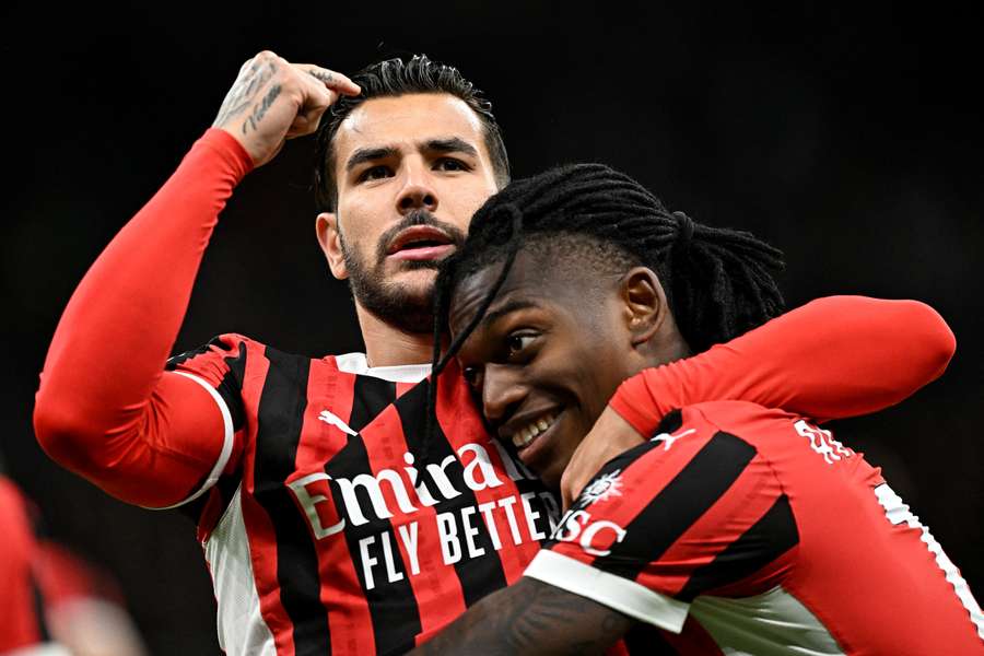
[[[502,130],[492,115],[492,103],[453,66],[440,63],[426,55],[408,59],[378,61],[362,69],[352,81],[362,87],[358,96],[341,96],[321,119],[315,140],[315,200],[321,211],[332,211],[338,202],[335,177],[335,134],[353,109],[378,97],[396,97],[411,93],[446,93],[460,98],[482,121],[485,150],[492,161],[495,181],[504,187],[509,181],[509,159]]]

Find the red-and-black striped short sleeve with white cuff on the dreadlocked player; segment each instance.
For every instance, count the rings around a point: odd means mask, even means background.
[[[683,412],[606,464],[525,576],[675,633],[700,594],[775,584],[798,542],[788,499],[750,442]]]

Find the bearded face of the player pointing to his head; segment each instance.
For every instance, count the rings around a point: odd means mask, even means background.
[[[430,331],[437,262],[496,191],[483,134],[448,94],[366,101],[339,127],[338,212],[319,218],[319,238],[332,273],[380,318]]]

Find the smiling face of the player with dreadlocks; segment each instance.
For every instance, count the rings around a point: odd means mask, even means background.
[[[468,325],[499,271],[493,265],[457,286],[453,335]],[[618,285],[520,251],[458,354],[494,434],[547,484],[559,483],[619,383],[644,366]]]

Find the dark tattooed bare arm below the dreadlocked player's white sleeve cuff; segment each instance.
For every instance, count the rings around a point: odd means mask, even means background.
[[[590,599],[522,578],[487,597],[420,654],[601,654],[634,620]]]

